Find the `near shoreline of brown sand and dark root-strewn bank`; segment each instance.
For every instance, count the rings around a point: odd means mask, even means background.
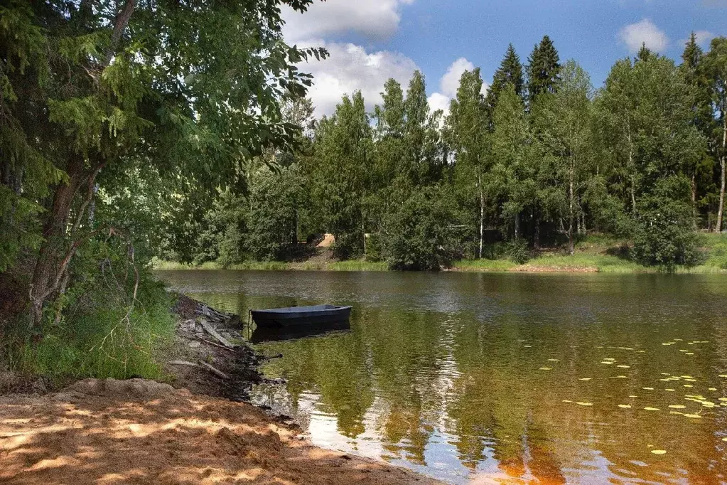
[[[279,356],[243,342],[239,316],[182,294],[173,311],[174,342],[160,353],[169,382],[91,378],[50,393],[0,394],[0,481],[444,483],[313,445],[292,417],[247,401],[265,381],[262,361]]]

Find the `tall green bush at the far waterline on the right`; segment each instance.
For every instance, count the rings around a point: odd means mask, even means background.
[[[694,233],[690,190],[684,177],[669,177],[640,199],[633,220],[633,260],[670,271],[676,265],[694,266],[703,260]]]

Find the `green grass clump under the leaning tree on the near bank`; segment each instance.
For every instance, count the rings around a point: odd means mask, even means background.
[[[31,343],[23,336],[10,356],[21,374],[41,375],[55,384],[85,377],[164,379],[159,364],[174,334],[172,302],[164,286],[144,281],[134,310],[116,289],[99,286],[84,294],[60,324],[47,324],[43,338]]]

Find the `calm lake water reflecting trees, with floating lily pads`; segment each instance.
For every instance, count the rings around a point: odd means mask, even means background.
[[[256,345],[313,443],[453,484],[727,484],[727,278],[160,271],[249,308],[353,305]]]

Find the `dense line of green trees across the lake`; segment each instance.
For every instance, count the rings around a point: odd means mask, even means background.
[[[465,72],[446,116],[430,111],[419,72],[406,92],[387,81],[373,113],[360,92],[317,123],[298,102],[305,150],[284,157],[272,182],[249,177],[245,204],[268,209],[212,210],[209,220],[232,217],[216,252],[200,241],[172,256],[281,258],[286,243],[329,232],[338,257],[434,269],[495,257],[500,240],[519,261],[541,246],[572,254],[600,231],[630,241],[624,256],[644,265],[696,264],[694,230],[723,228],[727,39],[703,52],[692,35],[680,65],[643,47],[601,89],[561,64],[547,36],[527,62],[510,45],[489,89],[479,69]],[[230,259],[228,232],[241,225],[249,233]]]

